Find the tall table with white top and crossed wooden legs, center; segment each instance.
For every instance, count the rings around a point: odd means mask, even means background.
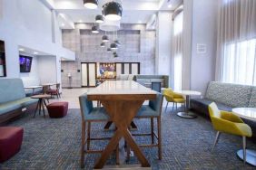
[[[107,158],[112,154],[122,137],[132,148],[142,166],[150,167],[128,127],[142,107],[143,102],[148,99],[156,99],[156,92],[133,80],[106,80],[94,90],[90,90],[87,95],[90,100],[100,100],[102,102],[103,107],[113,120],[115,127],[117,127],[94,168],[103,168]]]

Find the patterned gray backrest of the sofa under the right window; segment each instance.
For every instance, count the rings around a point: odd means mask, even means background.
[[[206,91],[206,99],[217,101],[232,108],[248,107],[251,86],[212,81]]]

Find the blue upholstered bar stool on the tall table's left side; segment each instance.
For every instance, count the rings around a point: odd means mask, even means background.
[[[79,97],[81,116],[82,116],[82,148],[81,148],[81,167],[84,167],[84,153],[99,153],[102,150],[91,150],[91,140],[106,140],[110,137],[93,138],[91,137],[91,123],[100,121],[109,121],[109,116],[105,109],[94,108],[93,101],[87,99],[87,94]],[[85,138],[85,128],[87,127],[87,138]],[[87,144],[86,150],[84,150],[85,144]]]

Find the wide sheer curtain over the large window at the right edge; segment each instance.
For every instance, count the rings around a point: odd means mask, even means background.
[[[220,0],[216,80],[256,85],[256,0]]]

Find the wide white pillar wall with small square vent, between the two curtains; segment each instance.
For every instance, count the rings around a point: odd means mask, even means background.
[[[202,93],[214,80],[217,44],[216,0],[193,0],[191,89]],[[205,44],[206,52],[197,52],[197,44]]]

